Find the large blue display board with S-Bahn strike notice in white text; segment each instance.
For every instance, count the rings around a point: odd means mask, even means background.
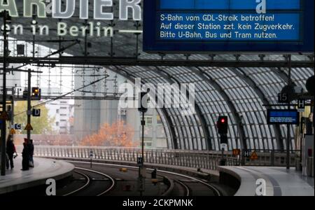
[[[314,0],[260,1],[144,1],[144,51],[314,52]]]

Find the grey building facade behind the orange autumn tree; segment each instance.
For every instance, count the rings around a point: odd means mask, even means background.
[[[89,69],[85,69],[85,71],[89,72]],[[86,75],[86,72],[82,74],[82,71],[78,71],[77,75]],[[118,87],[120,84],[125,83],[126,80],[110,71],[106,73],[109,74],[109,78],[106,78],[103,82],[91,85],[85,88],[83,92],[76,92],[78,97],[85,96],[92,97],[92,99],[76,100],[74,102],[73,134],[76,139],[84,139],[88,135],[97,133],[99,127],[105,123],[112,125],[118,120],[123,120],[126,125],[132,127],[134,133],[132,140],[134,143],[140,143],[142,134],[139,111],[137,109],[119,109]],[[93,80],[95,78],[76,76],[76,88],[88,85]],[[109,99],[106,99],[106,96]],[[115,97],[116,99],[113,99]],[[149,109],[148,113],[146,113],[144,142],[146,148],[167,148],[165,128],[155,109]],[[78,142],[78,144],[80,143]]]

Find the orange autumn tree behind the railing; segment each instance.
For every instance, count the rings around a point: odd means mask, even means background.
[[[134,147],[137,146],[132,141],[134,132],[125,122],[118,120],[116,123],[109,125],[105,123],[99,129],[99,132],[85,137],[81,146],[118,146],[118,147]]]

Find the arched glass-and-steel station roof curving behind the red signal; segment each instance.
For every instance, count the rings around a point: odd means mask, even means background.
[[[118,1],[114,1],[115,16]],[[22,8],[22,1],[18,2]],[[20,12],[21,13],[21,12]],[[92,8],[91,8],[92,13]],[[56,27],[52,18],[38,19],[38,25]],[[59,20],[68,25],[85,25],[84,20],[71,18]],[[31,19],[13,18],[12,24],[29,25]],[[88,56],[137,57],[138,59],[211,59],[209,55],[159,55],[141,51],[142,35],[120,33],[120,29],[142,29],[142,22],[133,20],[102,22],[104,26],[113,26],[116,33],[113,38],[77,37],[80,44],[74,45],[65,52],[73,56],[85,54],[85,43]],[[31,41],[33,36],[25,29],[23,36],[13,36],[18,40]],[[58,39],[55,31],[50,31],[50,39]],[[73,39],[64,36],[61,39]],[[59,43],[47,42],[45,36],[36,36],[37,45],[59,48]],[[62,43],[66,45],[66,43]],[[216,55],[214,59],[235,59],[234,55]],[[258,55],[240,55],[237,59],[256,60]],[[265,59],[286,60],[283,55],[265,55]],[[293,60],[309,60],[307,55],[293,55]],[[158,110],[167,130],[169,148],[183,150],[219,150],[220,138],[216,130],[218,116],[228,115],[230,127],[228,131],[229,148],[251,149],[283,149],[286,148],[286,127],[267,125],[266,112],[268,105],[275,104],[277,94],[288,81],[286,68],[234,68],[205,66],[106,66],[120,73],[129,80],[141,78],[143,83],[195,83],[196,112],[191,116],[183,116],[176,109]],[[295,85],[305,90],[307,78],[314,75],[311,68],[293,68],[292,80]],[[306,90],[305,90],[306,91]],[[264,106],[265,105],[265,106]],[[294,129],[291,129],[291,146],[295,148]]]

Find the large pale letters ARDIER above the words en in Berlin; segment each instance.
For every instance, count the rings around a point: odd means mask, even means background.
[[[4,3],[3,0],[0,0],[0,12],[8,10],[11,17],[18,18],[17,2],[16,0],[7,0]],[[104,12],[106,8],[113,7],[113,0],[51,0],[51,3],[48,4],[45,3],[45,0],[24,0],[23,17],[32,18],[35,6],[38,18],[47,18],[47,11],[52,10],[52,18],[68,19],[76,12],[76,3],[79,3],[80,6],[80,19],[89,19],[89,3],[94,5],[94,20],[113,20],[114,18],[112,12]],[[140,3],[141,0],[119,0],[119,19],[128,20],[128,11],[132,11],[133,20],[141,20]]]

